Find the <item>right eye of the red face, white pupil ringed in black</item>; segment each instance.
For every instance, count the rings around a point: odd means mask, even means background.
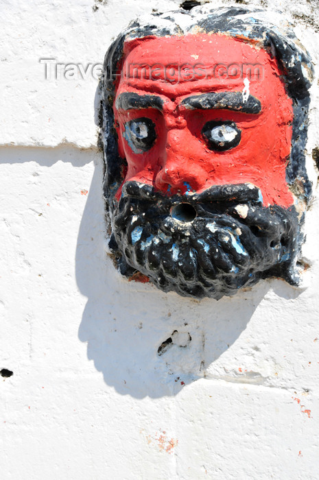
[[[241,137],[241,131],[233,121],[208,121],[202,134],[209,148],[218,152],[237,147]]]

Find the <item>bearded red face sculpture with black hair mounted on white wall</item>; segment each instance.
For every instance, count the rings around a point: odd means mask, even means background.
[[[242,8],[135,21],[104,62],[104,195],[123,275],[219,299],[298,285],[311,62]]]

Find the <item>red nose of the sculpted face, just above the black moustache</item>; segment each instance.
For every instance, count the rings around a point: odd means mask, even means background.
[[[198,189],[196,174],[190,167],[191,159],[186,142],[184,130],[172,129],[167,132],[163,164],[154,181],[156,189],[165,193],[185,193]]]

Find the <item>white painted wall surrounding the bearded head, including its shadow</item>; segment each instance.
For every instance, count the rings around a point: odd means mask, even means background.
[[[319,478],[318,200],[303,288],[197,302],[128,283],[105,252],[97,80],[39,62],[102,63],[134,16],[178,3],[0,1],[1,479]],[[314,58],[316,191],[318,3],[262,3]],[[189,346],[158,357],[175,330]]]

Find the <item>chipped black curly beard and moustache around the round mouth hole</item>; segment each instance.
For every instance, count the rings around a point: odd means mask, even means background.
[[[294,283],[296,209],[264,207],[259,195],[251,184],[235,184],[167,197],[126,182],[111,206],[110,247],[121,273],[138,270],[163,291],[217,300],[260,278]]]

